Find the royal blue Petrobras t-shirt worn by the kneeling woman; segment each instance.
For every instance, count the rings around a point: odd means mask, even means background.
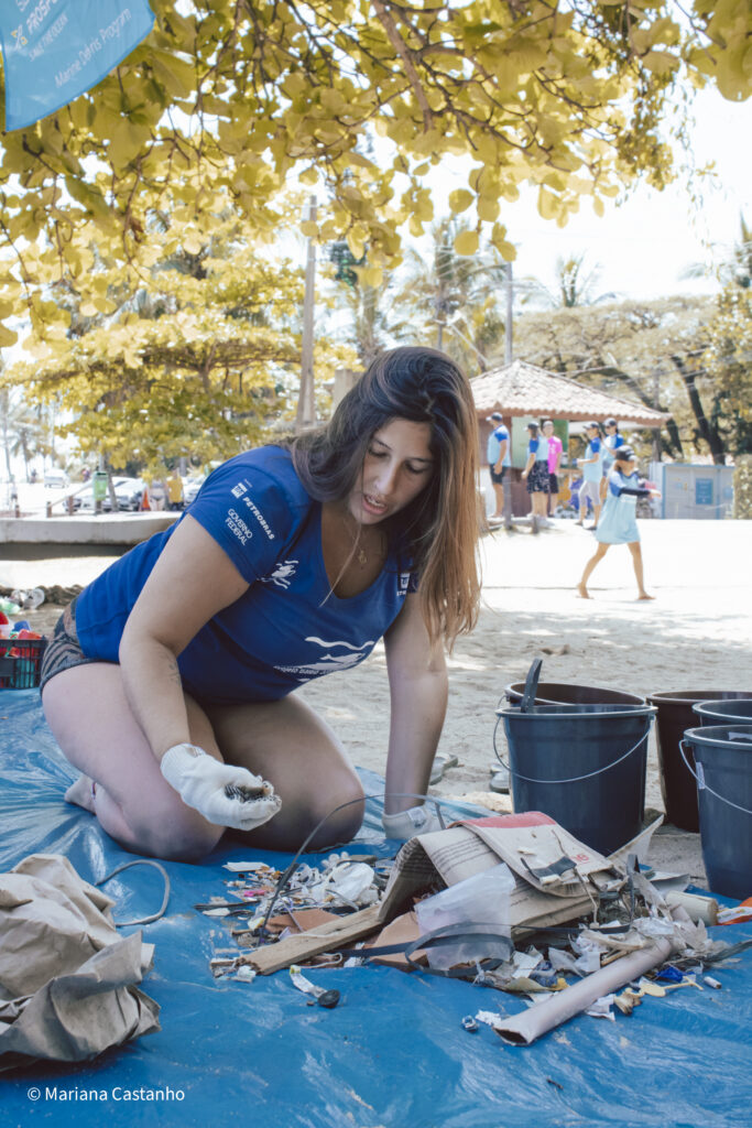
[[[276,700],[306,681],[356,666],[414,588],[390,553],[359,596],[339,599],[330,591],[321,505],[280,447],[250,450],[218,467],[186,512],[250,584],[178,658],[184,686],[198,700]],[[76,626],[88,658],[117,661],[125,620],[174,530],[136,545],[81,593]]]

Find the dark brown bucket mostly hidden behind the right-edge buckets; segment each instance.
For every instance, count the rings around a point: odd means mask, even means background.
[[[697,786],[679,751],[679,741],[687,729],[697,724],[692,706],[700,702],[743,700],[752,698],[752,691],[742,689],[666,689],[651,694],[649,705],[655,705],[658,715],[655,721],[655,743],[661,767],[661,794],[666,810],[666,820],[681,830],[700,829],[697,809]],[[718,722],[723,724],[723,721]],[[691,763],[691,752],[690,752]]]

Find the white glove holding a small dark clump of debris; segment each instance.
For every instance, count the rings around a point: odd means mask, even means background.
[[[220,827],[255,830],[282,805],[266,779],[246,768],[222,764],[195,744],[168,748],[160,767],[183,802]]]

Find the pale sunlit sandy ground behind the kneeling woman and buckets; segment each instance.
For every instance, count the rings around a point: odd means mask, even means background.
[[[433,792],[511,810],[488,791],[495,708],[532,660],[541,680],[608,686],[645,695],[670,689],[752,689],[752,522],[640,522],[652,602],[636,600],[626,547],[613,547],[591,581],[591,600],[575,585],[594,550],[593,535],[558,520],[533,537],[524,527],[481,541],[484,603],[478,626],[460,638],[450,664],[450,704],[439,752],[457,756]],[[109,563],[104,556],[0,559],[0,587],[85,584]],[[45,606],[34,616],[54,619]],[[389,690],[383,647],[355,670],[308,686],[304,696],[339,734],[354,763],[383,773]],[[662,812],[655,739],[651,737],[646,816]],[[699,835],[666,826],[649,860],[705,884]]]

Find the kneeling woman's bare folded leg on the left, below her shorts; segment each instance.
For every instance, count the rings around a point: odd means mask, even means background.
[[[95,662],[55,675],[44,688],[47,723],[67,759],[83,773],[67,792],[126,849],[195,861],[223,828],[186,807],[159,770],[125,698],[118,666]],[[186,697],[191,739],[221,759],[205,714]],[[94,793],[91,784],[94,782]]]

